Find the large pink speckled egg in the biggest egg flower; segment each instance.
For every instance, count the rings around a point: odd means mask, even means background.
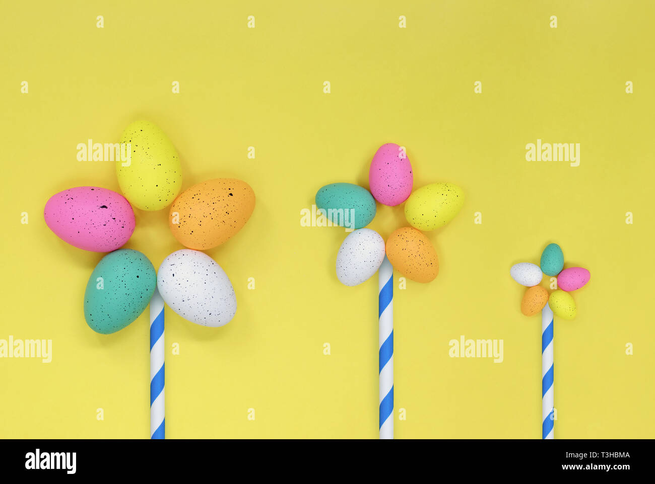
[[[45,223],[78,249],[111,252],[134,232],[134,211],[124,196],[98,186],[69,188],[48,199]]]

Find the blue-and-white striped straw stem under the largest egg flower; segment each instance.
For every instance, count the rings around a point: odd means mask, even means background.
[[[164,438],[164,300],[150,300],[150,438]]]

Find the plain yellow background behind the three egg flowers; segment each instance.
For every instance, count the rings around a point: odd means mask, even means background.
[[[303,227],[300,211],[324,184],[368,186],[386,142],[407,147],[415,188],[448,181],[467,197],[429,233],[438,278],[396,285],[396,438],[540,438],[540,317],[521,315],[509,269],[553,241],[592,274],[577,319],[555,319],[555,436],[654,437],[654,16],[650,1],[3,5],[0,338],[52,339],[53,355],[0,360],[0,437],[149,437],[147,311],[92,332],[83,293],[102,254],[43,220],[65,188],[119,190],[114,164],[77,162],[77,143],[116,142],[138,118],[178,149],[183,188],[237,177],[257,196],[244,229],[207,251],[233,282],[234,320],[166,310],[168,438],[377,437],[377,277],[341,285],[345,232]],[[538,138],[580,143],[580,166],[527,162]],[[168,210],[135,212],[126,247],[157,268],[182,248]],[[378,205],[370,227],[403,224],[402,207]],[[503,339],[504,362],[450,358],[460,335]]]

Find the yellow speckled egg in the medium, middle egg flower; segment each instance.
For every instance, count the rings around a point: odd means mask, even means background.
[[[405,218],[419,230],[434,230],[453,220],[464,205],[462,189],[452,183],[422,186],[405,202]]]

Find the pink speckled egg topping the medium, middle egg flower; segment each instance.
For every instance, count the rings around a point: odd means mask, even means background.
[[[407,153],[396,143],[378,148],[369,169],[369,186],[373,197],[383,205],[395,207],[411,194],[414,175]]]

